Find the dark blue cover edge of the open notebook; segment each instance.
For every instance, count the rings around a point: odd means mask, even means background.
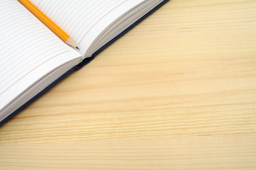
[[[36,96],[33,96],[33,98],[31,98],[29,101],[27,101],[25,104],[23,104],[23,106],[21,106],[20,108],[18,108],[16,111],[14,111],[13,113],[11,113],[9,116],[7,116],[4,120],[2,120],[0,122],[0,125],[4,124],[7,120],[9,120],[11,117],[13,117],[14,115],[16,115],[16,113],[18,113],[19,111],[21,111],[23,108],[25,108],[26,106],[28,106],[29,103],[31,103],[32,101],[36,100],[36,98],[38,98],[39,96],[41,96],[42,94],[44,94],[46,91],[48,91],[48,89],[50,89],[52,86],[54,86],[55,84],[58,83],[58,81],[60,81],[61,79],[63,79],[64,77],[66,77],[68,74],[70,74],[71,72],[75,71],[76,69],[80,69],[81,67],[85,66],[86,64],[88,64],[89,62],[91,62],[94,57],[99,54],[100,52],[102,52],[102,50],[104,50],[107,46],[109,46],[110,44],[112,44],[112,42],[114,42],[115,40],[117,40],[119,37],[121,37],[122,35],[124,35],[124,33],[127,33],[128,30],[131,30],[134,26],[136,26],[139,22],[141,22],[142,20],[144,20],[144,18],[146,18],[147,16],[149,16],[151,13],[153,13],[154,11],[156,11],[158,8],[160,8],[161,6],[163,6],[167,1],[169,0],[165,0],[162,1],[161,4],[159,4],[158,6],[156,6],[155,8],[153,8],[151,11],[149,11],[148,13],[146,13],[144,16],[142,16],[142,18],[139,18],[139,20],[137,20],[135,23],[133,23],[131,26],[129,26],[127,29],[125,29],[124,31],[122,31],[122,33],[120,33],[119,35],[117,35],[115,38],[113,38],[112,40],[110,40],[109,42],[107,42],[107,44],[103,45],[99,50],[97,50],[97,52],[95,52],[92,57],[86,58],[85,60],[83,60],[82,62],[80,62],[80,64],[76,65],[75,67],[73,67],[72,69],[70,69],[68,72],[66,72],[65,74],[63,74],[61,77],[59,77],[58,79],[56,79],[52,84],[50,84],[49,86],[46,87],[46,89],[43,89],[43,91],[41,91],[40,93],[38,93]]]

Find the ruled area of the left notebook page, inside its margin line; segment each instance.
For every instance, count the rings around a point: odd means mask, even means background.
[[[0,95],[38,65],[70,50],[15,0],[1,0],[0,47]]]

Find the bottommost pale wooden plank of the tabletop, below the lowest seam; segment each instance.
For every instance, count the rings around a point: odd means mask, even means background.
[[[255,169],[256,133],[1,146],[4,169]]]

